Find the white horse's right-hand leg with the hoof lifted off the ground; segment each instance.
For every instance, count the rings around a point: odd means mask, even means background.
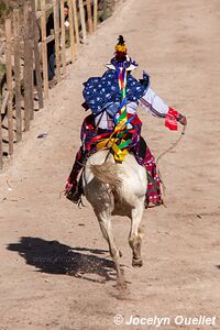
[[[136,208],[132,210],[129,244],[133,252],[133,258],[132,258],[133,267],[142,266],[142,258],[141,258],[142,234],[141,234],[141,230],[140,230],[140,224],[141,224],[141,220],[142,220],[143,209],[144,209],[144,207],[140,202],[140,205],[138,205]]]

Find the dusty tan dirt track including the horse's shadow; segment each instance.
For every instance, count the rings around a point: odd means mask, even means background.
[[[52,90],[0,175],[1,329],[130,329],[113,323],[117,314],[170,318],[169,326],[135,329],[220,329],[219,9],[219,0],[128,0]],[[59,199],[79,145],[81,82],[103,72],[120,33],[152,87],[188,118],[184,140],[160,165],[167,208],[143,217],[142,268],[131,266],[128,219],[113,221],[129,282],[124,300],[90,206]],[[158,155],[179,133],[140,114]],[[37,140],[42,131],[48,136]],[[178,315],[217,322],[180,327]]]

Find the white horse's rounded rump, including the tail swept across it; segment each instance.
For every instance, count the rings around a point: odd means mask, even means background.
[[[144,202],[146,193],[146,172],[138,164],[135,157],[127,155],[123,163],[116,163],[108,150],[102,150],[86,163],[84,172],[84,190],[94,207],[102,208],[107,204],[113,210],[131,209],[136,202]],[[108,157],[107,157],[108,156]]]

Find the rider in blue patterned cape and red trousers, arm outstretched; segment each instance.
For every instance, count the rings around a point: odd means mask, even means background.
[[[160,188],[160,177],[156,172],[155,158],[152,155],[144,139],[141,136],[142,122],[136,114],[138,106],[153,116],[165,119],[165,127],[169,130],[177,130],[177,122],[186,125],[186,117],[168,107],[150,87],[150,76],[144,72],[143,79],[136,80],[132,70],[138,64],[127,54],[127,46],[123,36],[119,36],[116,46],[114,57],[107,64],[108,70],[102,77],[92,77],[84,84],[85,103],[82,107],[91,110],[81,125],[81,146],[77,152],[76,160],[67,179],[65,191],[68,199],[77,202],[82,194],[81,180],[78,178],[86,158],[90,152],[96,151],[95,142],[111,134],[116,129],[116,119],[119,117],[120,89],[118,68],[127,70],[127,129],[132,130],[131,145],[129,146],[142,166],[146,168],[148,184],[146,187],[145,205],[162,205],[162,194]]]

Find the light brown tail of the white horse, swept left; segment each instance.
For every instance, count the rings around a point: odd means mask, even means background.
[[[119,165],[116,163],[105,162],[101,165],[90,165],[89,166],[94,176],[98,178],[101,183],[110,185],[113,189],[119,189],[122,184],[119,177]]]

